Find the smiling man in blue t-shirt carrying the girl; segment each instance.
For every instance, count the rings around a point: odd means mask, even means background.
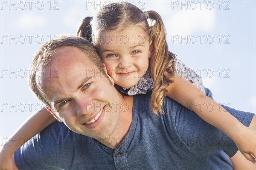
[[[232,169],[220,151],[237,152],[228,136],[169,98],[166,114],[156,116],[151,93],[122,96],[102,68],[96,49],[82,38],[41,47],[30,86],[60,122],[15,153],[19,169]],[[58,74],[38,77],[38,69]],[[252,113],[224,108],[255,128]]]

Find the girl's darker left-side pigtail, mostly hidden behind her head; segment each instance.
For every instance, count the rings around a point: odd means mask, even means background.
[[[84,37],[86,40],[92,42],[92,27],[91,27],[92,17],[85,17],[76,32],[76,36]]]

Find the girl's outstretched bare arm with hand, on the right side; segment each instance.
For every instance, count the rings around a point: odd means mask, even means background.
[[[178,74],[175,74],[174,80],[174,83],[166,88],[167,96],[194,111],[204,121],[230,136],[240,152],[255,163],[255,159],[250,154],[256,157],[256,130],[244,126],[221,105],[205,96],[198,88]]]

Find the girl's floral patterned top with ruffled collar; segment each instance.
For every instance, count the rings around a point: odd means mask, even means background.
[[[194,70],[183,64],[180,59],[175,58],[174,63],[176,72],[181,77],[195,85],[195,87],[197,87],[205,94],[205,89],[201,77],[198,74],[196,74]],[[133,96],[135,94],[146,94],[147,91],[152,91],[154,88],[154,81],[150,78],[149,73],[147,71],[145,75],[133,87],[122,88],[119,85],[115,85],[115,87],[122,94]]]

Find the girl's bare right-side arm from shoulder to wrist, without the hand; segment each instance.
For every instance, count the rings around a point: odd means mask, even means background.
[[[192,83],[177,74],[175,74],[174,83],[170,84],[166,90],[169,97],[194,111],[204,121],[222,130],[232,139],[237,136],[235,133],[243,129],[241,127],[244,127],[241,122],[228,113],[221,105],[205,96]]]

